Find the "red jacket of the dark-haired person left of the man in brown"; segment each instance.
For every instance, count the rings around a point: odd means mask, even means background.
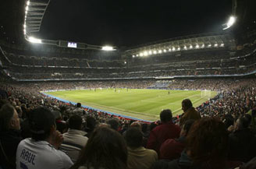
[[[172,121],[158,125],[150,132],[147,148],[155,150],[158,155],[160,146],[166,139],[175,139],[180,136],[180,126],[174,125]]]

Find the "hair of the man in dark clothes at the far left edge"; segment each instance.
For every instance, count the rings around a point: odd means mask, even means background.
[[[9,124],[13,117],[15,107],[12,104],[4,104],[0,109],[0,132],[9,130]]]

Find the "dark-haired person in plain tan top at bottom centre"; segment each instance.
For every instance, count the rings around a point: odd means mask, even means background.
[[[142,146],[143,135],[140,129],[128,129],[125,139],[128,146],[127,169],[148,169],[158,160],[155,150],[148,150]]]

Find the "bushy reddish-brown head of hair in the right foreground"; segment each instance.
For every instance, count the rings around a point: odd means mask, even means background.
[[[217,118],[194,121],[187,135],[187,152],[196,166],[219,168],[225,166],[228,133]]]

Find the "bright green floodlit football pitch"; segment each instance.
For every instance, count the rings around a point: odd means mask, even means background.
[[[44,92],[45,93],[45,92]],[[201,90],[139,90],[139,89],[97,89],[47,92],[54,97],[82,105],[123,114],[148,121],[159,119],[162,109],[171,109],[173,116],[181,114],[181,101],[189,98],[194,107],[208,98],[215,97],[215,91]]]

